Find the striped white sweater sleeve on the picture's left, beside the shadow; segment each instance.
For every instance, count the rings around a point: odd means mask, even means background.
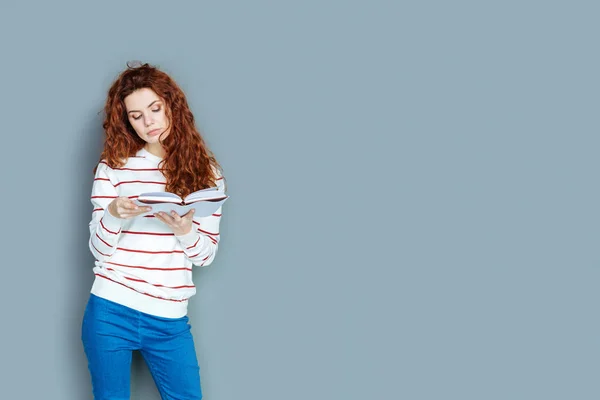
[[[94,210],[89,224],[89,247],[98,261],[110,258],[115,252],[124,221],[107,210],[108,205],[118,197],[117,189],[110,179],[110,171],[110,167],[100,163],[92,185],[91,201]]]

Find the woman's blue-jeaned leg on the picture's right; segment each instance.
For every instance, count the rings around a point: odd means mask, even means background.
[[[142,313],[141,353],[163,400],[200,400],[200,367],[188,317]]]

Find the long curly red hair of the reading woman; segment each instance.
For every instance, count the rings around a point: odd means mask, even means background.
[[[166,178],[165,191],[185,197],[215,186],[217,173],[222,174],[221,166],[198,132],[183,91],[169,75],[149,64],[127,63],[127,69],[110,87],[104,106],[102,126],[106,137],[100,161],[111,168],[122,167],[146,144],[129,123],[125,108],[125,98],[144,88],[153,90],[163,100],[170,121],[169,135],[162,139],[166,154],[159,164]]]

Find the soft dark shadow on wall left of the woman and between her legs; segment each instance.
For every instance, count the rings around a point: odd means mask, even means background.
[[[70,396],[73,399],[91,399],[92,385],[87,366],[87,358],[83,351],[81,343],[81,322],[83,313],[90,296],[90,289],[94,282],[94,257],[89,250],[88,240],[90,236],[89,222],[92,217],[92,203],[90,195],[94,181],[93,169],[98,164],[100,153],[104,145],[104,131],[102,128],[103,113],[102,105],[91,115],[89,125],[82,129],[81,140],[77,143],[77,149],[73,160],[75,168],[72,170],[72,182],[77,188],[72,194],[73,203],[70,205],[71,226],[69,231],[72,236],[69,238],[71,259],[69,265],[72,268],[71,285],[72,290],[68,295],[69,326],[68,343],[71,374],[76,385],[70,390]],[[150,371],[148,370],[144,359],[134,352],[132,357],[132,392],[131,398],[143,398],[146,400],[160,400],[160,395],[156,389]]]

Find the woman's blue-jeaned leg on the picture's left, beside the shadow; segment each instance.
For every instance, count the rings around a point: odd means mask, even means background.
[[[90,295],[81,340],[95,400],[129,400],[131,355],[139,349],[139,316],[128,307]]]

